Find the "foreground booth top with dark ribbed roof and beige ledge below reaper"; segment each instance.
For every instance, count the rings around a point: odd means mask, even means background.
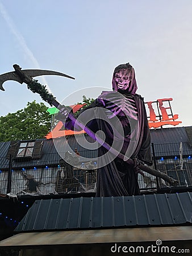
[[[192,193],[37,200],[0,242],[21,255],[190,253]],[[138,253],[138,254],[137,254]]]

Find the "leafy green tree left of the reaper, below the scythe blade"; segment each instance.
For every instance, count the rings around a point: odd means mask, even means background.
[[[28,102],[27,107],[16,113],[0,117],[0,141],[43,138],[51,125],[51,118],[43,102]]]

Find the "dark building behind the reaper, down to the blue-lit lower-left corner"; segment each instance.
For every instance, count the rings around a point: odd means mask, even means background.
[[[152,158],[156,168],[174,177],[179,183],[177,187],[172,187],[163,180],[156,179],[155,176],[147,173],[144,173],[144,176],[139,174],[141,195],[191,191],[191,131],[192,127],[150,130]],[[79,136],[81,139],[81,135]],[[90,140],[88,135],[86,137]],[[31,142],[25,142],[26,148]],[[78,181],[76,184],[69,183],[69,187],[66,188],[64,186],[66,176],[64,175],[64,179],[61,178],[61,172],[65,173],[66,169],[60,166],[61,158],[55,148],[56,144],[61,144],[61,138],[34,141],[34,150],[28,156],[25,154],[21,156],[21,153],[18,155],[22,143],[24,142],[0,143],[1,239],[12,234],[15,226],[37,199],[95,197],[97,168],[91,170],[89,166],[95,164],[97,167],[97,163],[81,162],[81,157],[95,158],[97,150],[85,151],[73,136],[68,138],[70,147],[78,148],[81,156],[78,158],[72,156],[74,161],[78,161],[79,168],[73,168],[73,173],[70,174],[73,175],[74,181]],[[65,144],[63,147],[65,148]],[[71,157],[71,154],[69,156]]]

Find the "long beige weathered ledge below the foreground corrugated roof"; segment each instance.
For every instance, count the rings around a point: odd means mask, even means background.
[[[16,234],[0,242],[5,246],[72,245],[111,242],[192,240],[191,226],[169,226],[151,228],[68,230],[52,232],[29,232]]]

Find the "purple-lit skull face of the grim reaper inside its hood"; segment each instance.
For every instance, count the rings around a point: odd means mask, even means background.
[[[131,82],[131,71],[130,69],[120,69],[115,73],[115,82],[118,89],[127,90]]]

